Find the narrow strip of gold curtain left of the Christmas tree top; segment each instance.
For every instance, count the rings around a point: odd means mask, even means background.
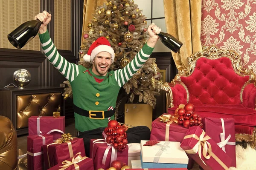
[[[102,6],[106,0],[84,0],[84,11],[83,11],[83,31],[89,31],[87,24],[90,23],[90,20],[93,19],[93,14],[97,6]],[[82,32],[81,44],[84,42],[85,32]]]

